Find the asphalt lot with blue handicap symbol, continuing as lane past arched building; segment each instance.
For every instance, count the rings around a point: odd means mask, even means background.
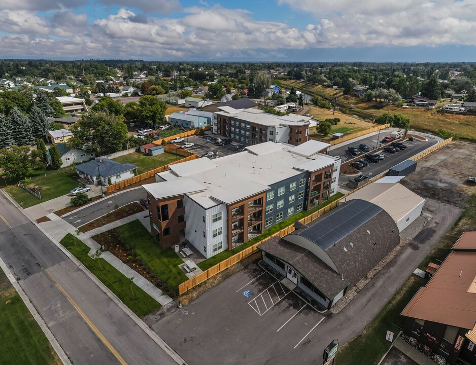
[[[333,339],[343,345],[363,331],[461,213],[428,200],[422,232],[338,314],[314,311],[253,263],[186,307],[167,305],[146,322],[191,365],[321,363]]]

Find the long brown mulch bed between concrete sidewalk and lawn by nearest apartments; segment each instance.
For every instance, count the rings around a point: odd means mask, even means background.
[[[164,294],[172,298],[177,298],[178,293],[171,288],[164,280],[157,277],[157,275],[147,266],[137,252],[124,243],[119,236],[117,230],[113,228],[104,233],[99,233],[92,237],[94,241],[104,246],[104,250],[111,252],[115,257],[121,260],[124,264],[132,270],[138,272],[140,275],[149,280],[152,284],[163,291]]]

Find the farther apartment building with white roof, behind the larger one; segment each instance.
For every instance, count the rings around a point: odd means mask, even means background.
[[[259,109],[229,106],[218,107],[213,117],[213,133],[246,145],[269,141],[299,145],[308,141],[309,125],[298,115],[280,117]]]

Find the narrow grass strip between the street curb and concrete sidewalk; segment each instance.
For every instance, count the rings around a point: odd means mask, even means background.
[[[155,299],[117,271],[106,260],[91,258],[88,255],[89,247],[72,234],[67,234],[60,243],[138,317],[142,318],[161,307]]]

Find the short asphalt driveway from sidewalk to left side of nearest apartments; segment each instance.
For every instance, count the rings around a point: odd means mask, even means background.
[[[120,194],[107,196],[86,208],[71,213],[65,216],[64,220],[74,227],[80,227],[114,210],[116,205],[121,207],[134,201],[140,201],[146,197],[147,194],[142,188],[128,189]]]

